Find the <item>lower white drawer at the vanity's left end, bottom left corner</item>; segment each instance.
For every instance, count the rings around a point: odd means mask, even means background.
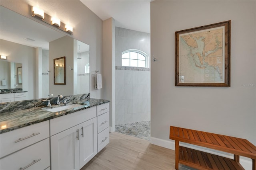
[[[26,166],[26,170],[43,170],[50,166],[49,138],[0,159],[1,170],[19,170]]]

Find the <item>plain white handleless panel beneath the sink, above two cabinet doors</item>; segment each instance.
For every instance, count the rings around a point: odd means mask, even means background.
[[[50,119],[50,136],[60,133],[94,117],[96,117],[96,107],[90,107],[75,113]]]

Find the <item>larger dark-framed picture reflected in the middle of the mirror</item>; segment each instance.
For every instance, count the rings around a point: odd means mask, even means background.
[[[53,60],[54,84],[66,84],[66,57]]]

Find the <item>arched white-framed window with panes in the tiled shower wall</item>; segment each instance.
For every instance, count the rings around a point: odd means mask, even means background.
[[[148,67],[148,55],[137,49],[123,51],[122,66]]]

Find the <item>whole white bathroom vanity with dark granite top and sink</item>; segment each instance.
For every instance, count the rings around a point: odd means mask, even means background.
[[[0,169],[79,170],[109,143],[108,102],[1,111]]]

